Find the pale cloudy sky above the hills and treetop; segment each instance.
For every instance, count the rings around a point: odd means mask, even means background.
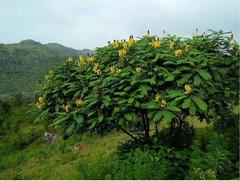
[[[33,39],[95,49],[114,39],[191,37],[232,31],[239,42],[239,0],[0,0],[0,43]]]

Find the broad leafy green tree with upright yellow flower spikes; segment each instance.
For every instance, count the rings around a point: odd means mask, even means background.
[[[188,116],[223,119],[238,104],[239,45],[229,34],[208,30],[188,39],[164,31],[160,39],[148,32],[108,42],[87,59],[70,57],[39,85],[36,121],[47,116],[67,134],[117,127],[133,139],[126,125],[138,122],[149,140],[150,125],[158,134],[163,120],[181,130]]]

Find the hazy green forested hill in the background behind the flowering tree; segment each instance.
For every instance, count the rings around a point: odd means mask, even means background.
[[[18,92],[33,96],[37,80],[52,65],[67,60],[69,56],[84,57],[93,50],[75,50],[57,43],[41,44],[34,40],[23,40],[15,44],[0,44],[0,95]]]

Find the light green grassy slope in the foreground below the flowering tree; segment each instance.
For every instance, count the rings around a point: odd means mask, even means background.
[[[195,127],[205,127],[197,119],[190,120]],[[24,129],[31,127],[26,125]],[[160,127],[166,127],[162,123]],[[19,131],[23,128],[20,127]],[[53,145],[41,144],[41,138],[22,151],[12,151],[0,158],[0,179],[84,179],[79,164],[96,164],[111,159],[117,145],[129,137],[124,133],[98,135],[73,135],[68,140],[59,140]],[[82,148],[75,153],[74,145]]]

